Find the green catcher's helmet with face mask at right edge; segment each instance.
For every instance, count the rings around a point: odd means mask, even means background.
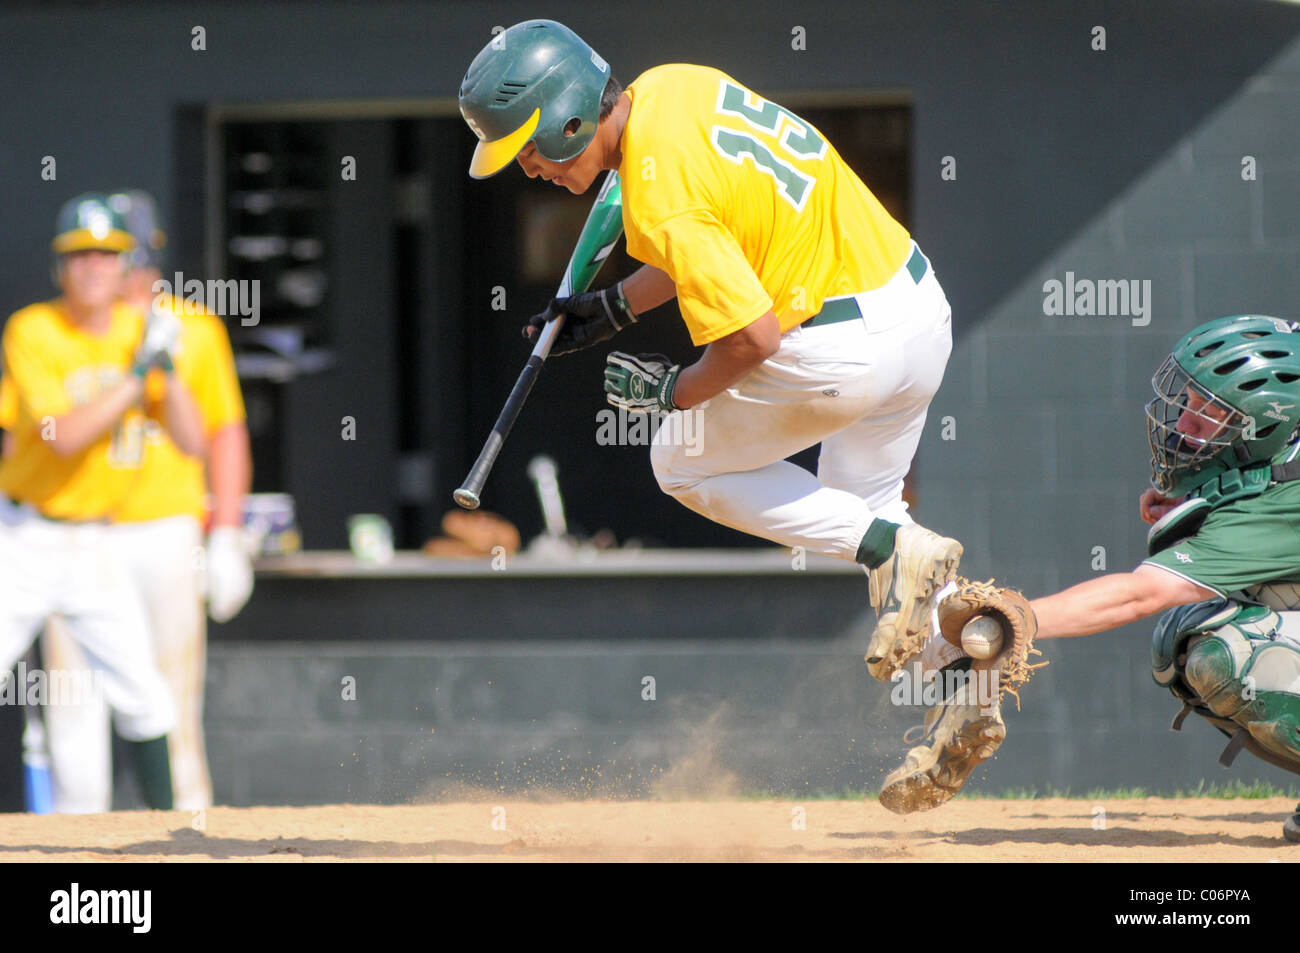
[[[1196,328],[1150,381],[1150,484],[1184,497],[1265,463],[1300,426],[1300,322],[1234,315]]]

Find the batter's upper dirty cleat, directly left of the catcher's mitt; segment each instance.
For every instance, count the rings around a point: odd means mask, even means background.
[[[894,536],[893,554],[867,571],[876,629],[867,646],[867,670],[889,681],[930,638],[931,597],[957,575],[962,545],[905,523]]]

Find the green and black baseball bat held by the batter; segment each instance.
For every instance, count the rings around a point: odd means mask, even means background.
[[[555,293],[555,296],[567,298],[568,295],[586,291],[592,285],[592,280],[595,278],[595,273],[601,270],[601,265],[610,257],[610,252],[614,251],[614,246],[621,234],[623,187],[619,183],[619,173],[610,172],[601,185],[601,191],[595,196],[595,203],[592,205],[590,213],[586,216],[586,224],[577,237],[577,246],[573,248],[573,255],[564,269],[564,278],[560,281],[560,287]],[[488,434],[488,441],[478,452],[478,459],[469,468],[469,475],[460,485],[460,489],[451,494],[456,503],[465,510],[478,508],[480,494],[482,493],[484,484],[488,481],[488,475],[491,473],[493,464],[497,463],[497,455],[500,454],[500,449],[506,443],[506,437],[510,434],[510,428],[514,426],[515,419],[523,410],[524,400],[528,399],[528,394],[537,381],[537,374],[541,372],[542,364],[546,363],[546,355],[551,352],[555,335],[560,333],[563,325],[564,315],[560,315],[549,321],[541,334],[537,335],[533,352],[528,355],[528,363],[524,364],[524,369],[519,373],[519,380],[515,381],[510,397],[506,398],[506,406],[502,407],[495,426]]]

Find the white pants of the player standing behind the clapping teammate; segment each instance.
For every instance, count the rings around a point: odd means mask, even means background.
[[[198,569],[202,530],[190,516],[172,516],[109,527],[108,538],[144,602],[151,651],[177,706],[176,728],[168,737],[176,807],[202,810],[212,805],[203,740],[207,627]],[[48,667],[84,666],[84,655],[68,634],[57,621],[47,627],[42,650]],[[104,706],[94,702],[51,706],[46,711],[46,737],[55,810],[60,814],[109,810],[112,738]]]

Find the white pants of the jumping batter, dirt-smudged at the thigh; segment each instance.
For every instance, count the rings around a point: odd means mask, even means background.
[[[651,449],[659,486],[715,523],[853,559],[871,520],[911,523],[904,478],[952,352],[952,308],[932,268],[855,295],[863,319],[796,328],[729,390],[675,411]],[[698,413],[694,429],[671,420]],[[818,473],[785,462],[822,443]]]

